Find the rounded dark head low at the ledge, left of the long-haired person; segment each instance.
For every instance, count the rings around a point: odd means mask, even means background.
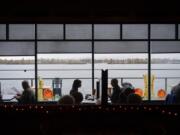
[[[60,105],[73,105],[74,103],[75,103],[75,99],[70,95],[64,95],[58,101],[58,104]]]

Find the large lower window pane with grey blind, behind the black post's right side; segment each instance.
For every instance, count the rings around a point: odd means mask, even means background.
[[[120,87],[123,82],[129,82],[147,100],[147,42],[95,42],[94,63],[96,79],[101,77],[102,69],[108,69],[109,88],[113,78],[118,79]]]

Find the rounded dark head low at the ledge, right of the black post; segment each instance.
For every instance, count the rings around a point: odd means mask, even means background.
[[[129,104],[141,104],[142,98],[138,94],[131,93],[127,96],[127,103],[129,103]]]

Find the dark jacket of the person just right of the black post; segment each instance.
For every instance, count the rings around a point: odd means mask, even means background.
[[[119,86],[116,86],[113,88],[113,93],[110,97],[111,103],[116,104],[119,101],[119,95],[121,94],[122,90]]]

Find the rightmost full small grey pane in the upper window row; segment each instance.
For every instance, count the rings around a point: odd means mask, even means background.
[[[175,39],[175,25],[151,24],[151,39]]]

